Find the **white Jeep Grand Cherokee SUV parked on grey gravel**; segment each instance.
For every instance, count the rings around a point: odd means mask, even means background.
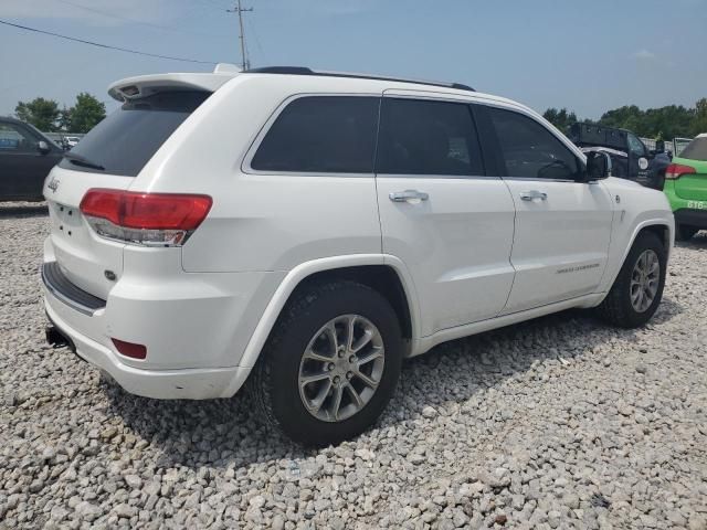
[[[401,360],[599,306],[659,304],[663,193],[457,84],[272,67],[115,83],[48,177],[48,337],[128,392],[229,398],[291,437],[371,425]]]

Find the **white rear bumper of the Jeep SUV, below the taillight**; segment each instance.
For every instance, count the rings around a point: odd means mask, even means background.
[[[184,273],[180,257],[173,250],[126,251],[126,266],[103,300],[64,276],[48,239],[46,314],[81,358],[130,393],[230,398],[250,373],[241,357],[284,273]],[[144,344],[147,357],[120,354],[114,338]]]

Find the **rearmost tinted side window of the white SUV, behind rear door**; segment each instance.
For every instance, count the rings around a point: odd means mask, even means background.
[[[372,173],[380,99],[312,96],[279,114],[251,161],[258,171]]]

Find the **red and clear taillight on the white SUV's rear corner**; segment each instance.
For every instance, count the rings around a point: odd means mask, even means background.
[[[147,246],[180,246],[205,219],[208,195],[88,190],[81,213],[102,237]]]

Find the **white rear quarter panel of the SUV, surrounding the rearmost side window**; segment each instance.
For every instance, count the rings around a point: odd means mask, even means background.
[[[136,179],[134,191],[213,198],[209,216],[182,250],[184,271],[289,271],[310,259],[381,253],[372,174],[255,174],[242,169],[258,132],[293,93],[352,92],[350,86],[323,86],[320,80],[302,77],[288,83],[274,83],[272,76],[229,82]]]

